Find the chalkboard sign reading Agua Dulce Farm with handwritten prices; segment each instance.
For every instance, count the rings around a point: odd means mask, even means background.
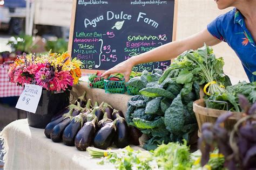
[[[77,0],[71,19],[72,58],[83,62],[82,69],[107,70],[173,40],[174,0]],[[169,65],[151,62],[133,70]]]

